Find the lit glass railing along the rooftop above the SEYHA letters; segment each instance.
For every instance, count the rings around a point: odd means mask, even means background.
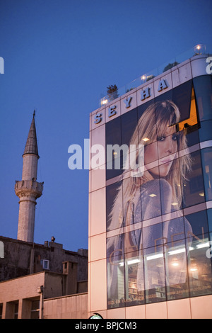
[[[122,86],[121,88],[118,88],[116,91],[112,92],[111,94],[104,96],[103,98],[100,99],[100,107],[109,103],[110,101],[113,101],[115,98],[122,96],[127,92],[137,88],[138,86],[141,86],[141,84],[146,83],[147,81],[153,79],[154,77],[163,74],[168,69],[175,67],[177,64],[180,64],[181,62],[184,62],[185,60],[188,60],[194,57],[195,55],[211,55],[211,54],[212,54],[212,46],[208,46],[206,48],[206,45],[198,44],[192,47],[192,49],[189,49],[186,52],[177,55],[177,57],[172,58],[169,62],[165,62],[160,67],[151,70],[151,72],[142,74],[137,79],[134,79],[134,81],[129,82],[129,84],[125,84],[125,86]]]

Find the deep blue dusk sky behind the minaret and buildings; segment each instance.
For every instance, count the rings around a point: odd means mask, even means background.
[[[212,45],[211,14],[211,0],[0,0],[1,236],[17,237],[14,186],[35,109],[35,242],[88,249],[88,170],[69,169],[69,146],[83,149],[107,86]]]

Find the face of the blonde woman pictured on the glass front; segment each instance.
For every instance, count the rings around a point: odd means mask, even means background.
[[[162,136],[157,137],[156,142],[145,147],[144,162],[148,164],[158,159],[159,168],[151,169],[151,174],[165,177],[170,171],[176,152],[177,135],[174,129],[167,128]]]

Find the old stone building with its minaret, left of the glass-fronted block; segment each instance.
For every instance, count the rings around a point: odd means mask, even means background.
[[[37,182],[38,159],[34,113],[22,180],[15,185],[18,236],[0,236],[0,318],[87,318],[88,250],[68,251],[54,237],[44,244],[34,242],[35,205],[43,190]],[[60,302],[65,307],[55,310]]]

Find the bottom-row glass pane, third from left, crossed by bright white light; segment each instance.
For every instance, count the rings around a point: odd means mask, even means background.
[[[146,303],[166,300],[163,247],[143,250]]]

